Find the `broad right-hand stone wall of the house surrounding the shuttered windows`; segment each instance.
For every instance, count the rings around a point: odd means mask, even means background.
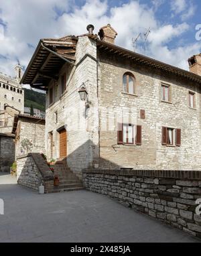
[[[200,170],[200,86],[115,54],[99,51],[98,60],[100,168]],[[135,95],[123,92],[125,72],[135,76]],[[161,101],[162,82],[170,85],[170,103]],[[189,90],[196,92],[195,109],[189,107]],[[140,117],[141,109],[145,119]],[[117,145],[117,122],[122,116],[123,123],[142,126],[141,145]],[[161,145],[162,126],[182,129],[180,147]]]

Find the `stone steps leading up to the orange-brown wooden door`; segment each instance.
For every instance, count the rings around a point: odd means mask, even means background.
[[[84,189],[82,181],[68,168],[66,161],[58,159],[53,168],[54,175],[58,176],[60,182],[59,186],[54,186],[54,190],[50,190],[50,193]]]

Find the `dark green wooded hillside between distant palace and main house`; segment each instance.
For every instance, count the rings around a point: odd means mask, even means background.
[[[46,110],[46,94],[36,92],[36,90],[29,90],[24,88],[24,107],[31,107],[34,109]]]

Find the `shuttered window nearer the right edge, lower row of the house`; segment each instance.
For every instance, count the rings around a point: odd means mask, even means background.
[[[181,129],[162,127],[162,145],[180,147]]]

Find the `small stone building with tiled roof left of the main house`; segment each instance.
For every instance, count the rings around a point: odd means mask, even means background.
[[[15,115],[12,133],[15,135],[15,159],[27,153],[45,153],[45,119]]]

